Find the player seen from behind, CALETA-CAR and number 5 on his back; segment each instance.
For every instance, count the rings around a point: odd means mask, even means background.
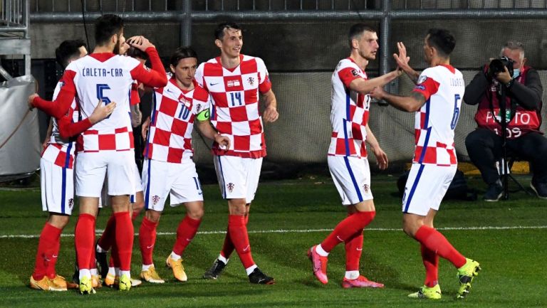
[[[78,137],[76,161],[76,194],[80,197],[80,216],[75,230],[75,244],[80,268],[80,293],[94,293],[91,285],[90,256],[95,242],[95,217],[105,174],[108,194],[116,219],[115,243],[120,257],[120,290],[130,290],[130,265],[133,225],[129,196],[135,192],[132,128],[129,119],[129,93],[133,80],[145,85],[163,87],[167,84],[165,69],[155,46],[140,36],[130,39],[130,45],[146,51],[152,70],[138,60],[118,55],[125,42],[123,20],[106,14],[95,23],[95,49],[91,55],[73,61],[66,68],[56,104],[64,112],[78,95],[83,117],[90,115],[98,98],[105,103],[116,101],[118,108],[108,119],[95,124]],[[68,101],[68,103],[67,103]],[[33,101],[33,103],[36,103]],[[108,172],[107,172],[108,171]]]

